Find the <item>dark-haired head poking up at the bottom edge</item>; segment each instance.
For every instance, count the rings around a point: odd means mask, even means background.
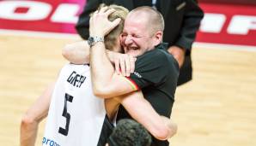
[[[149,132],[134,120],[119,120],[108,139],[108,146],[149,146]]]

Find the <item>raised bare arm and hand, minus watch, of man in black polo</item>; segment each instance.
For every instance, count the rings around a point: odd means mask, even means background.
[[[114,9],[102,8],[98,14],[94,14],[90,20],[90,35],[104,37],[119,24],[120,19],[109,21],[107,16],[113,13]],[[104,18],[104,19],[102,19]],[[99,20],[101,23],[99,23]],[[98,42],[90,48],[90,67],[93,83],[93,90],[96,96],[112,97],[120,96],[137,88],[123,76],[114,73],[114,68],[107,58],[105,44]]]

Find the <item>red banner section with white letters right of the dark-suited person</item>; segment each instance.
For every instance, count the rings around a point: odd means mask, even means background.
[[[256,6],[201,3],[204,20],[197,41],[256,46]]]

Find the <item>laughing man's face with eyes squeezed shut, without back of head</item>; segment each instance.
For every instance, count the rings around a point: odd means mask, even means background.
[[[152,35],[149,34],[147,17],[137,18],[137,15],[129,15],[125,19],[125,27],[121,36],[121,44],[125,54],[138,56],[147,50],[154,48]]]

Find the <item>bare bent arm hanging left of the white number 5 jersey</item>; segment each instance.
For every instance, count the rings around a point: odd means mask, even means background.
[[[34,105],[23,115],[21,119],[21,146],[34,146],[38,125],[48,114],[53,88],[54,84],[49,85],[46,91],[34,102]]]

